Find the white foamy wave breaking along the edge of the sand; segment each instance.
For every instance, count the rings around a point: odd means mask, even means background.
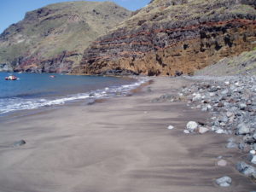
[[[125,96],[132,89],[145,83],[147,78],[139,79],[136,83],[125,84],[121,86],[106,87],[102,90],[94,90],[87,93],[79,93],[65,97],[58,97],[55,99],[42,98],[0,98],[0,113],[10,113],[18,110],[36,109],[55,105],[63,105],[68,102],[74,102],[87,98],[108,98],[113,96]]]

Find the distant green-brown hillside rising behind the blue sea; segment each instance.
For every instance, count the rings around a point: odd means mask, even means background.
[[[28,12],[0,35],[0,65],[15,71],[69,72],[91,41],[130,15],[110,2],[56,3]]]

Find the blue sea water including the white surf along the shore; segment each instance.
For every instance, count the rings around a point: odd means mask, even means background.
[[[12,73],[18,80],[5,80],[0,73],[0,115],[86,99],[124,96],[145,79],[75,76],[53,73]],[[55,78],[50,78],[55,75]]]

